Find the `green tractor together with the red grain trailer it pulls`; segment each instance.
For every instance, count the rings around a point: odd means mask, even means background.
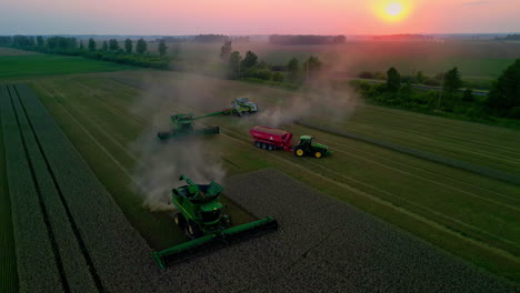
[[[294,152],[297,156],[311,155],[318,159],[332,154],[329,146],[312,142],[313,138],[310,135],[301,135],[298,145],[292,148],[292,133],[288,131],[258,125],[250,129],[249,133],[254,145],[264,150],[284,150]]]

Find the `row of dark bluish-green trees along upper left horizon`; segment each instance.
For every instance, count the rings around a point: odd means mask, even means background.
[[[1,47],[11,47],[21,50],[38,51],[42,53],[80,55],[90,59],[111,61],[137,67],[168,69],[169,58],[168,47],[164,41],[159,42],[159,55],[148,52],[148,42],[139,39],[134,43],[131,39],[126,39],[123,48],[120,48],[117,39],[104,40],[100,48],[98,42],[90,38],[87,44],[83,40],[72,37],[49,37],[42,36],[8,36],[0,37]]]

